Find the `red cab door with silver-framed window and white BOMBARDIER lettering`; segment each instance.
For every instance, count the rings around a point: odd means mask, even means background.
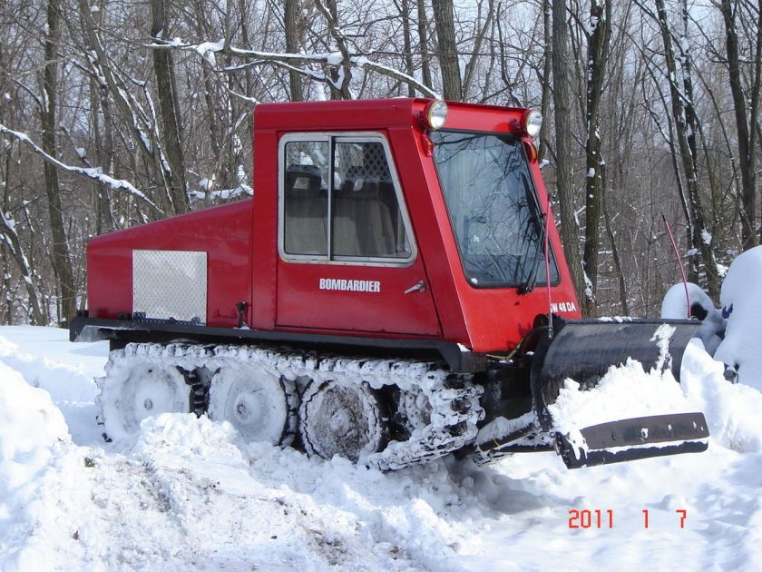
[[[440,336],[386,137],[288,133],[278,169],[278,327]]]

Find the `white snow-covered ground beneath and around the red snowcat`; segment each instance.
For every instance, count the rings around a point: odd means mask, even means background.
[[[105,444],[92,378],[106,352],[0,329],[0,569],[762,569],[762,393],[698,348],[681,387],[707,415],[705,453],[386,474],[245,446],[192,414]]]

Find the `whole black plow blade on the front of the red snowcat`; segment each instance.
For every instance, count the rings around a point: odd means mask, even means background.
[[[679,380],[683,352],[699,329],[698,321],[556,321],[554,326],[556,335],[538,344],[532,361],[532,397],[542,429],[551,434],[553,448],[568,468],[707,449],[703,413],[675,411],[638,417],[625,413],[621,415],[625,419],[588,426],[589,419],[588,423],[567,419],[574,418],[573,410],[570,415],[568,407],[564,412],[553,406],[570,378],[579,384],[573,386],[579,390],[578,396],[591,396],[581,399],[592,399],[601,377],[628,358],[640,361],[645,371],[671,370]],[[666,393],[672,388],[657,387],[664,388],[665,403],[659,390],[652,396],[646,395],[647,390],[637,395],[638,386],[630,397],[645,399],[643,407],[649,411],[669,411]],[[607,409],[608,415],[613,409],[616,416],[617,405],[604,400],[597,409]]]

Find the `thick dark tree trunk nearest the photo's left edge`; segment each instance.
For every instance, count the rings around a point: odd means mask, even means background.
[[[47,3],[47,29],[44,37],[45,69],[44,69],[44,102],[41,111],[43,127],[43,150],[52,156],[57,156],[55,148],[55,95],[58,81],[57,47],[58,47],[58,21],[60,5],[58,0],[48,0]],[[72,261],[69,256],[69,245],[66,242],[64,232],[64,213],[61,208],[61,190],[58,185],[58,171],[52,163],[44,162],[45,194],[47,195],[48,212],[50,213],[50,227],[53,235],[52,259],[58,290],[61,296],[61,315],[64,321],[71,320],[76,313],[76,292],[74,291],[74,279]]]

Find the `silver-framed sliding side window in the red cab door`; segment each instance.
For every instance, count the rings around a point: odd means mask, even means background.
[[[380,263],[412,257],[385,146],[368,139],[287,141],[281,163],[287,255]]]

